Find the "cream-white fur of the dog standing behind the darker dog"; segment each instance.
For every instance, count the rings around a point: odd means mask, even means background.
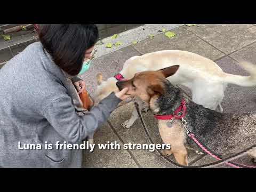
[[[251,76],[239,76],[227,74],[212,60],[204,58],[198,54],[187,51],[158,51],[142,56],[132,57],[124,63],[121,74],[126,78],[132,78],[134,74],[146,70],[159,70],[173,65],[179,65],[178,72],[170,76],[168,80],[173,85],[183,85],[188,87],[193,94],[193,101],[205,108],[212,110],[220,107],[227,84],[237,84],[241,86],[256,85],[256,66],[242,62],[241,66],[247,70]],[[113,91],[118,91],[114,77],[103,82],[102,75],[98,75],[97,90],[94,93],[95,104],[106,98]],[[143,102],[139,103],[140,109],[147,111],[147,106]],[[132,117],[124,122],[124,127],[129,128],[138,118],[134,108]]]

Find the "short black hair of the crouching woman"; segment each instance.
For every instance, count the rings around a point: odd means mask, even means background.
[[[55,64],[71,76],[79,74],[86,50],[99,39],[94,24],[42,24],[38,34]]]

